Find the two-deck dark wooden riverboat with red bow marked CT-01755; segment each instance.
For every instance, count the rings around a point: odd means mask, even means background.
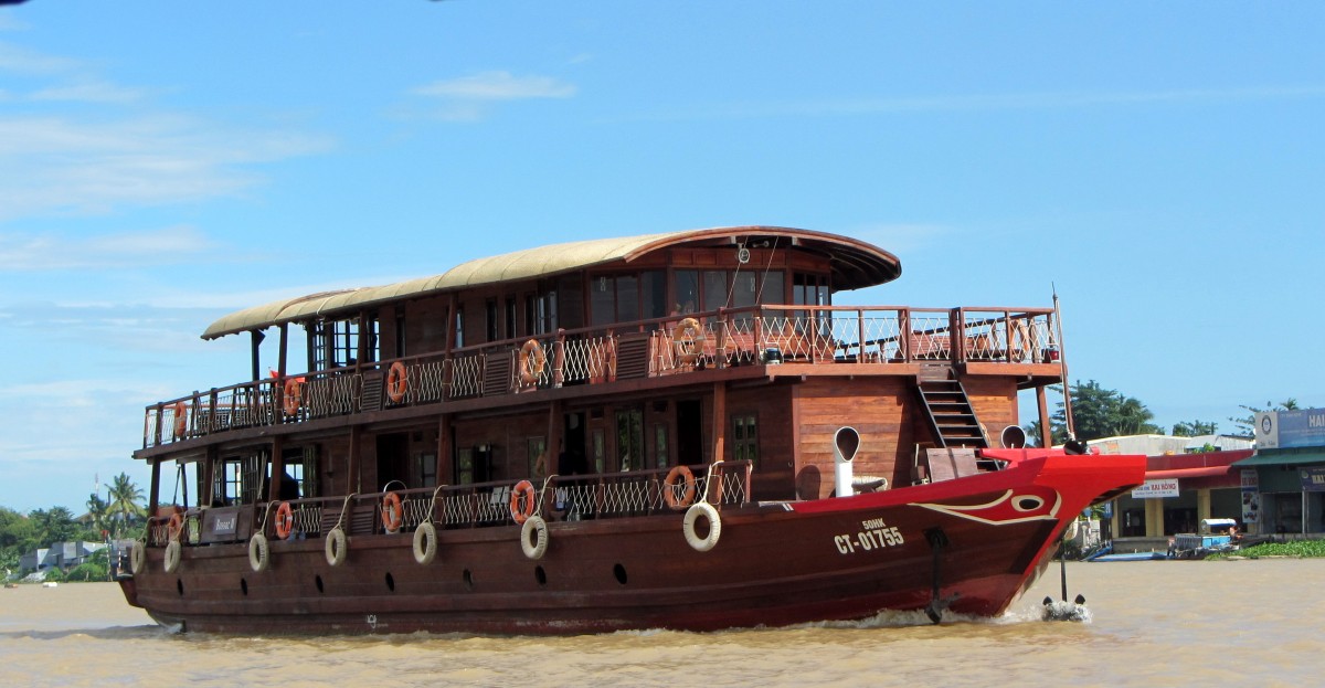
[[[248,333],[248,380],[146,410],[125,595],[245,634],[998,615],[1145,460],[1024,448],[1056,308],[832,305],[900,273],[737,227],[227,315],[203,338]]]

